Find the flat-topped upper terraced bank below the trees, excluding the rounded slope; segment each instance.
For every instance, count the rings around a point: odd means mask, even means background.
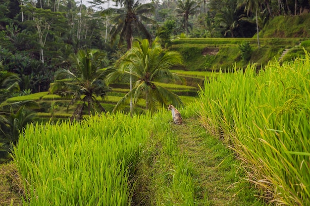
[[[212,71],[232,69],[234,66],[245,67],[249,62],[258,67],[278,59],[284,49],[298,46],[303,38],[197,38],[177,39],[172,41],[171,50],[179,51],[184,59],[178,70]],[[240,45],[249,42],[249,61],[242,59]]]

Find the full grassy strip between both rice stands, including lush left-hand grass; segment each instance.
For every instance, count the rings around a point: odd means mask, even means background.
[[[262,206],[237,175],[234,154],[207,135],[197,118],[155,134],[138,169],[136,194],[143,206]],[[141,172],[142,171],[142,172]],[[240,170],[239,170],[240,172]],[[138,195],[139,196],[139,195]]]

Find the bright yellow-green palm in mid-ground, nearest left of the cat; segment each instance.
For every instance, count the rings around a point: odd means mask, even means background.
[[[147,39],[133,43],[122,62],[120,69],[111,75],[111,80],[128,82],[130,77],[135,81],[130,90],[115,106],[113,111],[120,109],[133,98],[133,104],[141,98],[146,100],[146,110],[154,112],[157,106],[182,105],[181,99],[173,92],[160,86],[158,82],[180,81],[180,78],[170,72],[169,68],[181,63],[181,55],[175,51],[164,52],[157,38],[150,45]]]

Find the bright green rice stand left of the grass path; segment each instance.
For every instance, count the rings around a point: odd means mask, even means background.
[[[25,204],[131,205],[131,177],[149,136],[149,119],[118,113],[29,125],[14,148]]]

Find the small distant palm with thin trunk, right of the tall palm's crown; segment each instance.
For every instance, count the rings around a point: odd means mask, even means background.
[[[194,15],[197,11],[199,5],[196,1],[192,0],[178,0],[177,8],[175,11],[178,13],[178,16],[183,17],[184,25],[183,28],[186,30],[186,35],[188,35],[188,18],[190,15]]]

